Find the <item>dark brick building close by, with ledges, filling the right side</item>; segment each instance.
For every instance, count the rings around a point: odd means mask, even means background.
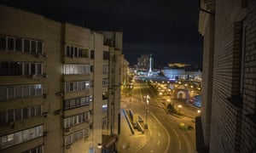
[[[201,0],[199,152],[256,152],[255,16],[255,0]]]

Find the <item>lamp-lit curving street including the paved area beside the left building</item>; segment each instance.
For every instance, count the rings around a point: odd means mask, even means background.
[[[131,96],[127,95],[128,94],[123,94],[121,102],[122,109],[131,109],[135,114],[143,117],[143,124],[148,123],[148,129],[144,129],[144,134],[136,132],[134,135],[131,133],[130,135],[125,135],[122,133],[123,128],[125,128],[126,132],[127,130],[129,131],[129,129],[127,122],[122,120],[120,137],[130,137],[131,140],[133,137],[133,139],[137,138],[136,143],[130,141],[129,150],[141,144],[141,147],[135,150],[135,152],[196,152],[195,129],[188,130],[180,126],[184,124],[195,127],[194,122],[192,122],[193,116],[196,115],[195,113],[193,114],[196,110],[195,108],[190,108],[189,106],[183,107],[183,114],[189,116],[172,116],[166,111],[165,107],[160,104],[157,95],[148,88],[145,82],[135,82]],[[146,95],[150,97],[148,99],[148,115],[146,113]],[[177,103],[182,102],[177,101]],[[123,126],[122,124],[125,125]],[[121,139],[124,140],[125,138]],[[124,149],[124,146],[119,149],[119,152],[125,151],[129,152],[127,148]]]

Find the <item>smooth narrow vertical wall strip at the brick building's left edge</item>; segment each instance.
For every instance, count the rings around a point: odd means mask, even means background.
[[[206,22],[204,31],[204,52],[203,52],[203,72],[202,72],[202,92],[201,95],[201,123],[204,136],[204,144],[209,145],[211,115],[212,115],[212,67],[214,51],[214,16],[202,13],[201,17]]]

